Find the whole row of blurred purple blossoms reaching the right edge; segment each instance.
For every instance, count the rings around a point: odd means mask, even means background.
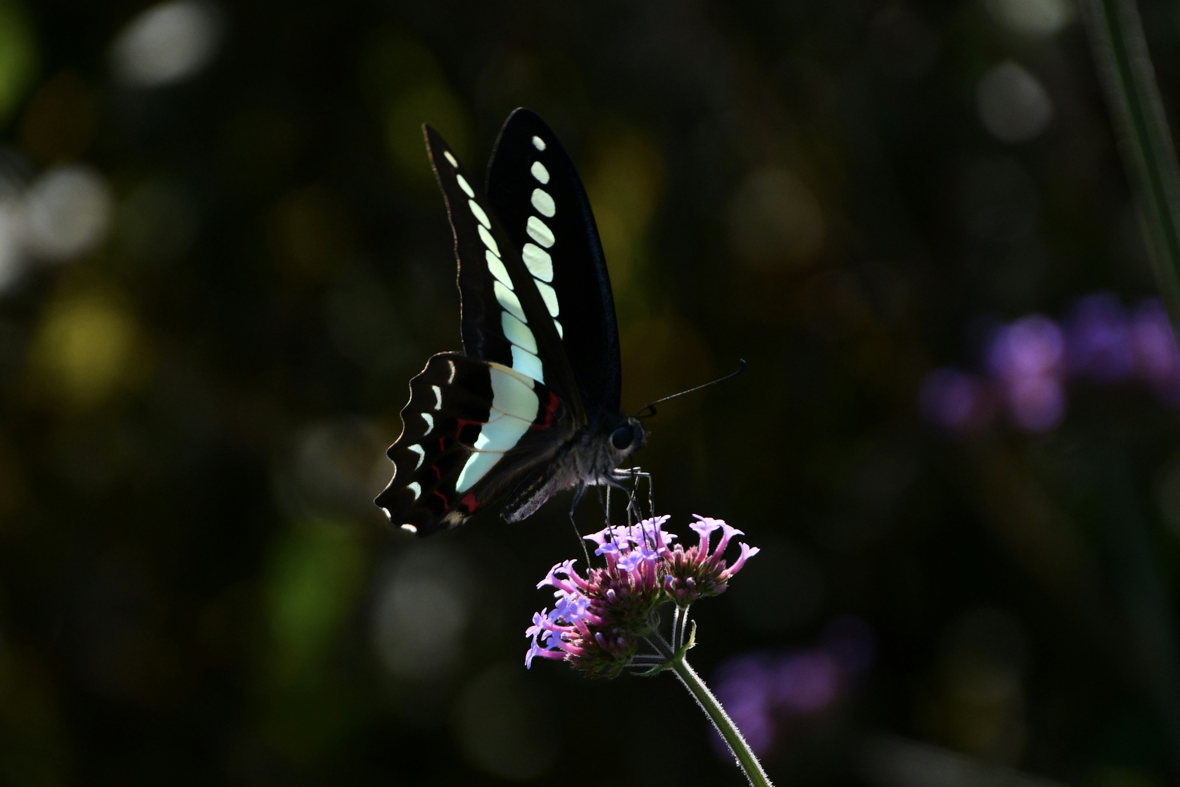
[[[1145,383],[1180,406],[1180,352],[1163,307],[1141,302],[1128,314],[1119,299],[1080,299],[1058,324],[1040,314],[991,332],[982,374],[931,372],[922,385],[923,415],[950,432],[977,432],[1004,412],[1024,432],[1047,432],[1066,415],[1066,382]]]

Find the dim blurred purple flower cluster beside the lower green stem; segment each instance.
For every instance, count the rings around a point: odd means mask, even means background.
[[[838,617],[825,627],[817,647],[728,658],[717,668],[714,684],[750,748],[766,754],[785,722],[831,708],[872,663],[873,650],[868,624]],[[714,742],[719,755],[729,756],[720,736]]]

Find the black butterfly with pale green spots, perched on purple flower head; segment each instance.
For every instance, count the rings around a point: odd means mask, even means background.
[[[419,536],[453,527],[507,493],[517,522],[570,487],[618,483],[645,434],[618,412],[615,301],[590,202],[545,123],[516,110],[487,195],[424,126],[454,230],[463,353],[409,381],[393,480],[376,504]]]

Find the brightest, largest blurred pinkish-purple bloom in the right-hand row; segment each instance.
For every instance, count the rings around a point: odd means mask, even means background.
[[[1012,422],[1027,432],[1048,432],[1066,414],[1061,386],[1066,342],[1057,324],[1034,314],[999,328],[988,347]]]

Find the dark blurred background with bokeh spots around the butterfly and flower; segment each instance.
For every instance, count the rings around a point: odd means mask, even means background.
[[[520,105],[627,409],[749,362],[640,461],[762,547],[693,661],[772,778],[1180,781],[1180,355],[1069,0],[0,0],[0,782],[742,783],[671,678],[525,671],[563,499],[372,504],[460,345],[420,124]]]

